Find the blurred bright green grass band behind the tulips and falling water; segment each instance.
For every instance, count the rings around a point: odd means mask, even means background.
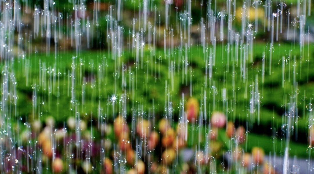
[[[309,112],[305,109],[305,106],[311,101],[312,96],[308,94],[314,92],[311,85],[314,72],[309,68],[314,66],[312,61],[313,49],[308,48],[313,48],[313,45],[306,46],[302,52],[293,43],[274,45],[272,71],[269,73],[269,47],[266,43],[256,42],[253,46],[253,62],[247,64],[248,75],[247,79],[244,79],[239,69],[240,63],[236,66],[236,62],[233,63],[230,59],[229,67],[226,66],[228,61],[226,59],[227,51],[225,45],[219,43],[216,47],[213,77],[207,77],[207,85],[205,85],[204,79],[206,62],[201,47],[192,47],[188,50],[187,55],[191,64],[188,66],[187,75],[182,71],[183,64],[176,62],[176,65],[180,66],[175,69],[175,77],[170,79],[168,79],[169,60],[163,58],[164,54],[161,54],[163,50],[157,50],[156,55],[152,55],[148,46],[144,49],[143,67],[138,66],[138,68],[134,64],[134,55],[129,52],[122,54],[116,61],[111,58],[111,54],[105,51],[82,51],[77,57],[74,56],[75,52],[60,52],[56,60],[53,54],[48,56],[46,54],[34,54],[25,59],[16,59],[14,62],[14,80],[17,82],[16,92],[18,96],[16,111],[25,121],[37,118],[44,121],[46,116],[52,115],[59,125],[63,125],[67,117],[75,115],[75,112],[78,112],[87,121],[97,120],[101,110],[101,115],[111,122],[112,117],[121,112],[123,103],[120,99],[125,97],[126,112],[129,119],[131,119],[131,115],[136,115],[137,112],[143,109],[148,114],[151,114],[154,109],[154,119],[159,120],[166,114],[165,103],[171,102],[173,105],[173,118],[176,120],[179,114],[177,108],[182,98],[181,92],[185,92],[187,97],[190,91],[190,82],[192,82],[192,95],[199,101],[203,100],[204,90],[207,91],[207,108],[209,110],[226,110],[224,101],[220,98],[222,90],[225,88],[229,98],[228,101],[230,101],[228,104],[228,119],[241,125],[248,124],[249,127],[257,127],[257,129],[249,129],[253,133],[252,136],[251,133],[249,134],[249,139],[252,141],[249,141],[247,148],[250,149],[252,146],[260,145],[266,151],[273,151],[273,148],[268,146],[271,141],[270,135],[273,134],[273,130],[276,130],[278,131],[278,139],[283,137],[281,132],[283,115],[288,107],[287,104],[291,100],[291,95],[297,94],[295,96],[299,108],[298,117],[294,123],[294,131],[298,132],[299,137],[296,139],[293,135],[292,140],[307,142],[308,129],[306,127],[309,124],[307,121]],[[263,52],[266,53],[264,83],[261,80]],[[176,61],[178,54],[184,55],[185,51],[181,52],[181,50],[176,49],[174,57],[171,57],[170,60]],[[283,56],[286,60],[285,67],[287,67],[284,70],[284,87],[282,87],[281,80]],[[73,59],[73,57],[75,58]],[[294,58],[296,63],[295,73],[291,71]],[[124,78],[126,78],[126,85],[123,87],[122,74],[115,73],[119,70],[114,68],[121,67],[121,64],[124,64]],[[233,68],[235,72],[233,72]],[[51,71],[52,69],[54,70]],[[74,77],[71,75],[72,71]],[[295,81],[298,82],[298,89],[293,88],[294,74]],[[182,76],[187,81],[182,81]],[[248,103],[251,97],[250,91],[252,90],[250,85],[256,82],[256,77],[258,78],[258,93],[261,96],[259,121],[257,112],[250,113]],[[78,100],[79,105],[71,104],[72,78],[74,78],[74,98]],[[82,79],[85,79],[86,82],[83,82]],[[171,83],[172,80],[173,83]],[[234,85],[232,84],[233,80],[235,81]],[[168,90],[165,90],[166,84]],[[215,100],[212,86],[217,89]],[[33,113],[34,105],[32,100],[34,98],[32,96],[35,93],[35,106],[40,108],[41,114],[38,114],[37,110],[34,110]],[[113,95],[117,95],[115,103],[110,100]],[[170,100],[168,100],[167,95],[170,96]],[[233,98],[233,96],[235,97]],[[13,101],[13,99],[10,100]],[[115,105],[114,110],[113,105]],[[257,111],[257,106],[255,107]],[[207,120],[209,115],[207,115]],[[256,144],[258,142],[260,144]],[[277,142],[276,147],[274,147],[277,153],[281,150],[279,144]],[[293,142],[291,146],[300,147],[291,148],[293,149],[291,150],[292,154],[306,157],[306,154],[295,151],[295,149],[303,151],[306,148],[305,144]]]

